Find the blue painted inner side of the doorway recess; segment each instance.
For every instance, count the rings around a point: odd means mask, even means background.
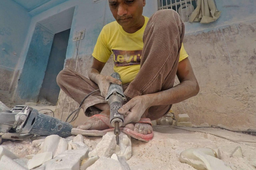
[[[17,92],[21,100],[37,102],[53,37],[54,34],[41,25],[36,25],[18,81]]]

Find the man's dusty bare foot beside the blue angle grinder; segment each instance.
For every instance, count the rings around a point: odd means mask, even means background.
[[[102,111],[99,115],[103,115],[109,118],[110,111]],[[77,128],[83,130],[105,130],[109,127],[97,117],[90,118],[85,123],[80,124]]]

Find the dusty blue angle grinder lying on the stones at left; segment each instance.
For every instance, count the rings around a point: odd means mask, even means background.
[[[48,136],[57,134],[71,136],[73,126],[57,118],[38,113],[26,105],[15,106],[12,110],[0,111],[0,132],[37,134]]]

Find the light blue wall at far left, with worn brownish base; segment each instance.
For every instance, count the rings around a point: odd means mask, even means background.
[[[30,21],[22,6],[9,0],[0,1],[0,90],[9,90]]]

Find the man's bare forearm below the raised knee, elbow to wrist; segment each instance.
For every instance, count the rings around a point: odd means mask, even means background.
[[[144,97],[148,107],[151,107],[179,103],[197,95],[198,92],[198,83],[191,80],[186,80],[173,88],[153,94],[146,94]]]

